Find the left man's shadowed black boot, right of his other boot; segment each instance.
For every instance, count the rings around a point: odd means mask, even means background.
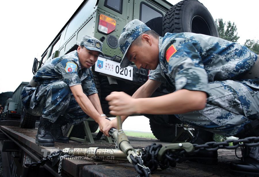
[[[66,136],[63,136],[63,132],[62,132],[62,126],[66,125],[66,122],[62,122],[62,120],[63,119],[61,117],[58,117],[56,122],[52,124],[50,133],[54,138],[54,142],[68,143],[69,138]]]

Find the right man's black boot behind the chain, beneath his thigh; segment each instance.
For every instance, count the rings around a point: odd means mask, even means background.
[[[214,133],[205,131],[202,129],[195,129],[195,134],[190,143],[192,144],[205,144],[206,142],[212,142]],[[186,155],[185,160],[188,161],[197,161],[204,164],[215,165],[218,163],[218,151],[207,151],[199,150],[194,155]]]

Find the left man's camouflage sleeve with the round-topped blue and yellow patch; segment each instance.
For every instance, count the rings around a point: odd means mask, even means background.
[[[54,69],[62,75],[62,80],[66,82],[68,86],[74,86],[81,84],[80,78],[77,73],[77,64],[70,59],[63,59],[58,62]]]

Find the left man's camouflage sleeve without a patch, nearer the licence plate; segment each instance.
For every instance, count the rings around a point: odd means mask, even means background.
[[[92,70],[90,68],[89,69],[85,68],[82,71],[83,72],[82,72],[81,79],[83,80],[81,81],[81,83],[82,83],[82,88],[85,95],[92,95],[94,93],[98,93],[96,89],[96,85],[94,83]]]

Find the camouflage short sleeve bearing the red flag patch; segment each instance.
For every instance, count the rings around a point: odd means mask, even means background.
[[[176,91],[187,89],[208,93],[208,78],[199,55],[199,43],[184,39],[177,42],[176,46],[168,46],[165,53],[168,73],[175,78]]]

